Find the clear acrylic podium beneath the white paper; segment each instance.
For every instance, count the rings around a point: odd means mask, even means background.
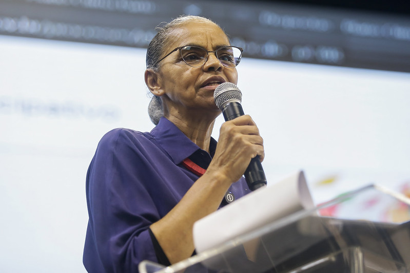
[[[223,228],[223,227],[221,227]],[[170,272],[410,272],[410,201],[369,185],[164,267]]]

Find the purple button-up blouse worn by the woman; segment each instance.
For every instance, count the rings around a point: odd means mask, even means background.
[[[216,141],[211,139],[213,155]],[[161,118],[150,132],[114,129],[101,139],[86,178],[88,227],[83,263],[88,272],[138,272],[158,262],[149,226],[164,217],[199,178],[181,162],[206,167],[211,155]],[[229,189],[249,193],[242,177]]]

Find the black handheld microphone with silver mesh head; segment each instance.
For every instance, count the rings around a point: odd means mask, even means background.
[[[244,115],[241,105],[242,92],[232,82],[221,83],[213,92],[213,99],[217,107],[222,111],[225,121]],[[263,171],[259,156],[250,160],[244,175],[251,191],[266,185],[265,172]]]

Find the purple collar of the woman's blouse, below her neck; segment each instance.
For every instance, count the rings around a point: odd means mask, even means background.
[[[200,149],[165,117],[162,117],[158,125],[152,129],[151,135],[177,165]]]

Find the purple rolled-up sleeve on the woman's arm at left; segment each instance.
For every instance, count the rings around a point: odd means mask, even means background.
[[[149,226],[160,216],[150,195],[147,151],[122,131],[103,137],[87,173],[84,265],[95,268],[99,260],[106,272],[138,272],[142,260],[158,262]]]

